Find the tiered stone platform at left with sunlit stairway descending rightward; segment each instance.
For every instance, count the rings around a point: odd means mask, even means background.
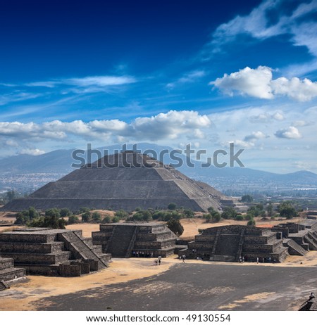
[[[27,228],[0,234],[0,254],[27,274],[80,276],[108,267],[110,254],[81,230]]]

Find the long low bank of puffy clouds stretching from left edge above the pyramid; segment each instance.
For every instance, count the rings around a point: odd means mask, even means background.
[[[192,139],[204,138],[202,129],[211,125],[206,115],[193,110],[170,110],[151,117],[137,117],[130,123],[121,120],[54,120],[37,124],[34,122],[0,122],[0,136],[23,141],[59,140],[70,141],[72,136],[82,139],[177,139],[181,135]]]

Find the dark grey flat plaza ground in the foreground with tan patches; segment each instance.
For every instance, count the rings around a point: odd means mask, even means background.
[[[316,267],[178,264],[146,279],[45,298],[37,310],[298,310]]]

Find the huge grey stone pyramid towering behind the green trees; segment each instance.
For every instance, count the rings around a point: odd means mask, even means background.
[[[148,155],[125,151],[106,155],[58,181],[46,184],[27,198],[13,200],[3,210],[20,211],[81,207],[95,209],[166,209],[169,203],[195,211],[220,210],[230,198],[205,183],[189,179]]]

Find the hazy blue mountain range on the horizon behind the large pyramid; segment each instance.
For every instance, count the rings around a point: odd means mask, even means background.
[[[121,148],[120,145],[105,146],[99,148],[99,151],[112,154],[115,151],[120,151]],[[147,143],[137,144],[137,148],[142,152],[151,149],[156,153],[173,150],[168,146]],[[132,149],[132,145],[129,145],[127,149]],[[1,159],[0,186],[2,189],[20,190],[22,186],[24,190],[28,188],[33,190],[48,181],[55,181],[73,170],[71,165],[76,162],[72,158],[72,153],[73,149],[56,150],[43,155],[15,155]],[[178,154],[178,156],[186,161],[185,155]],[[157,158],[159,159],[159,154]],[[163,158],[165,164],[176,163],[168,155],[164,155]],[[92,160],[97,160],[97,155],[92,155]],[[216,168],[211,166],[201,168],[199,162],[192,160],[192,163],[194,163],[194,167],[182,165],[178,167],[178,170],[188,177],[204,181],[225,193],[281,192],[297,188],[317,188],[317,174],[313,172],[275,174],[246,167]],[[19,180],[21,178],[23,181]]]

